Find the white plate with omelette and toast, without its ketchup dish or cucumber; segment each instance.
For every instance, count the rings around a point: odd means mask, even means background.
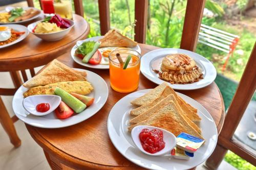
[[[86,104],[87,107],[84,106],[86,108],[81,110],[80,106],[84,103],[81,100],[82,103],[79,104],[79,111],[77,111],[61,96],[63,105],[69,107],[64,106],[61,109],[60,106],[63,106],[61,102],[58,106],[59,110],[57,108],[54,112],[44,116],[29,114],[23,107],[25,97],[37,96],[37,94],[56,95],[58,94],[56,93],[57,87],[72,95],[76,93],[78,96],[94,98],[94,101],[90,105]],[[96,114],[104,106],[108,95],[109,90],[105,81],[94,72],[69,68],[61,62],[53,60],[42,68],[36,76],[18,88],[14,94],[12,107],[15,115],[26,124],[40,128],[62,128],[78,124]]]

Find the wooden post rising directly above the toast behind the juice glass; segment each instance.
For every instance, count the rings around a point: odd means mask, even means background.
[[[105,35],[110,30],[110,1],[98,0],[100,34]]]

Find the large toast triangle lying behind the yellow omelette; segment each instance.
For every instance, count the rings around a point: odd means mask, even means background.
[[[24,83],[23,86],[31,88],[58,82],[86,81],[86,75],[85,71],[74,70],[55,59],[45,65],[36,76]]]

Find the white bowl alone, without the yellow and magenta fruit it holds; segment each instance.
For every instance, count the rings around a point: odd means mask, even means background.
[[[75,22],[73,20],[71,20],[71,19],[67,19],[67,20],[69,20],[71,27],[67,28],[65,30],[58,31],[58,32],[47,33],[47,34],[33,33],[32,30],[35,28],[37,23],[42,21],[42,20],[36,21],[36,22],[31,23],[30,25],[28,25],[28,30],[29,30],[29,32],[31,34],[34,34],[35,36],[37,36],[38,38],[41,38],[42,40],[45,40],[45,41],[57,41],[57,40],[60,40],[63,37],[65,37],[70,32],[70,30],[74,27],[74,25],[75,25]]]

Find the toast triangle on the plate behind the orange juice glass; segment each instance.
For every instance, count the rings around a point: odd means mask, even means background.
[[[119,33],[116,30],[110,30],[99,41],[101,42],[99,47],[106,47],[106,46],[134,47],[137,45],[137,42],[133,41],[132,39],[126,36],[123,36],[121,33]]]

